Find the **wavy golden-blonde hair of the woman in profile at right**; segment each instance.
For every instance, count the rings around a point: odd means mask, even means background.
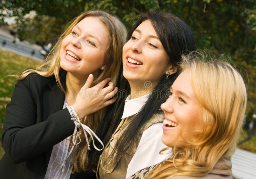
[[[203,107],[204,130],[188,145],[173,147],[172,156],[149,172],[147,179],[204,176],[220,158],[236,150],[247,100],[244,80],[223,56],[217,60],[205,54],[183,56],[180,65],[182,71],[190,69],[193,90]]]

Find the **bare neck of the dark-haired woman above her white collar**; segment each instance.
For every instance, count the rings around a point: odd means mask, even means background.
[[[149,94],[154,89],[155,85],[150,82],[130,83],[131,87],[131,99],[139,98],[146,94]]]

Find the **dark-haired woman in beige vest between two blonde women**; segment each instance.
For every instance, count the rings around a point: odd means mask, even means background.
[[[165,147],[160,105],[169,95],[181,54],[195,50],[189,26],[170,13],[141,14],[131,32],[123,47],[119,99],[97,132],[106,145],[101,155],[96,151],[91,155],[92,164],[100,157],[100,179],[124,179],[170,157],[159,154]]]

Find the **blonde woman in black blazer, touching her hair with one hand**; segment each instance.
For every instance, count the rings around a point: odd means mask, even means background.
[[[116,16],[85,11],[70,22],[36,70],[18,77],[6,106],[1,178],[69,179],[92,172],[88,149],[104,147],[92,134],[104,107],[115,102],[126,34]],[[89,146],[94,137],[102,144],[98,148]]]

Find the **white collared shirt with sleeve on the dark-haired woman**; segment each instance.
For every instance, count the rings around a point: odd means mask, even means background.
[[[131,99],[129,95],[125,100],[122,118],[138,113],[148,100],[149,95],[147,94],[135,99]],[[156,165],[171,156],[171,153],[159,154],[160,150],[167,147],[161,140],[163,134],[162,127],[163,123],[156,123],[143,131],[137,150],[128,165],[125,178],[143,168]]]

